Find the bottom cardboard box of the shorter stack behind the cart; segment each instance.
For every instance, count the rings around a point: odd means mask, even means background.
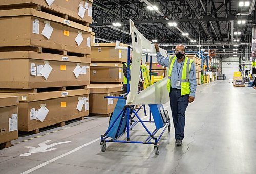
[[[121,84],[91,84],[89,95],[89,108],[92,114],[110,114],[114,112],[117,99],[104,98],[105,96],[119,96],[123,93]]]

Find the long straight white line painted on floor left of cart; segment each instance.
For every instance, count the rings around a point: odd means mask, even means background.
[[[83,144],[83,145],[81,145],[81,146],[79,146],[79,147],[77,147],[77,148],[74,148],[73,150],[71,150],[71,151],[69,151],[69,152],[66,152],[65,154],[62,154],[62,155],[60,155],[60,156],[57,156],[57,157],[55,157],[55,158],[53,158],[53,159],[51,159],[51,160],[49,160],[49,161],[47,161],[47,162],[45,162],[45,163],[42,163],[42,164],[40,164],[40,165],[38,165],[38,166],[35,166],[35,167],[31,168],[30,170],[27,170],[27,171],[25,171],[25,172],[23,172],[23,173],[21,173],[21,174],[28,174],[28,173],[31,173],[31,172],[33,172],[33,171],[35,171],[35,170],[37,170],[37,169],[39,169],[39,168],[41,168],[41,167],[44,167],[44,166],[46,166],[46,165],[48,165],[48,164],[50,164],[50,163],[52,163],[52,162],[54,162],[54,161],[56,161],[56,160],[62,158],[62,157],[65,157],[65,156],[67,156],[67,155],[69,155],[69,154],[72,154],[72,153],[74,153],[74,152],[80,150],[81,148],[86,147],[86,146],[88,146],[88,145],[90,145],[90,144],[92,144],[92,143],[95,143],[95,142],[99,141],[99,140],[100,140],[100,138],[97,138],[97,139],[95,139],[95,140],[93,140],[93,141],[91,141],[91,142],[89,142],[89,143]]]

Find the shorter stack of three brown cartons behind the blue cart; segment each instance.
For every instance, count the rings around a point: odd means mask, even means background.
[[[110,116],[117,100],[104,96],[119,96],[123,92],[123,63],[127,51],[116,50],[115,43],[95,43],[92,46],[90,67],[90,114]],[[120,44],[120,46],[127,46]]]

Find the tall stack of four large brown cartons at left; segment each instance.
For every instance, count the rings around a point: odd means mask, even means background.
[[[0,2],[0,92],[18,96],[18,130],[89,115],[92,0]]]

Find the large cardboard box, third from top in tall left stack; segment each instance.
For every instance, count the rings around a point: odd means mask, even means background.
[[[0,88],[32,89],[89,85],[90,62],[90,58],[49,53],[0,52]],[[52,67],[52,71],[46,80],[40,76],[38,66],[45,66],[47,63]],[[73,72],[77,63],[80,64],[80,68],[83,67],[83,72],[78,78]]]

